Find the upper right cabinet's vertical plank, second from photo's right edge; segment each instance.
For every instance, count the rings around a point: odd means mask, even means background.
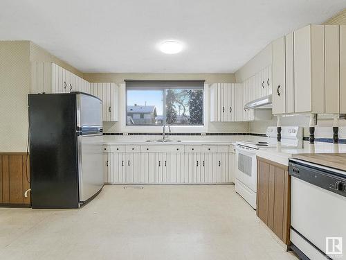
[[[325,112],[339,113],[339,26],[325,25]]]

